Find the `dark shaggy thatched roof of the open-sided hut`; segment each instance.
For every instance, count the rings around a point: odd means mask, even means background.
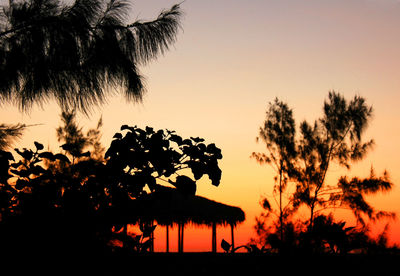
[[[126,214],[130,222],[155,220],[160,225],[194,223],[211,226],[237,225],[245,220],[239,207],[229,206],[205,197],[184,195],[177,189],[162,187],[156,192],[133,200]]]

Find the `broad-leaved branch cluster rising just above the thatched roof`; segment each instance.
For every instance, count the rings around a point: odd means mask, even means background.
[[[126,134],[116,133],[105,154],[107,167],[113,175],[111,194],[117,189],[129,198],[138,198],[146,193],[145,187],[149,191],[156,190],[156,180],[161,180],[194,195],[195,180],[203,175],[208,175],[213,185],[219,185],[218,159],[222,154],[215,144],[206,145],[202,138],[183,139],[174,131],[155,131],[151,127],[124,125],[121,131]],[[179,171],[191,172],[195,180],[179,175]],[[172,176],[175,179],[171,179]],[[121,202],[116,200],[116,204]]]

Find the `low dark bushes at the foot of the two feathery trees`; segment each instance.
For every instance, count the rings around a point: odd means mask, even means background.
[[[331,214],[318,215],[313,228],[309,228],[308,221],[288,221],[284,225],[285,239],[281,240],[276,226],[268,227],[263,220],[257,222],[257,239],[252,239],[247,245],[251,252],[293,255],[399,253],[396,245],[388,243],[388,226],[373,238],[368,225],[347,227],[345,221],[335,221]]]

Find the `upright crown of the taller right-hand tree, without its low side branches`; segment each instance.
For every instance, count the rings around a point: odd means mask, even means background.
[[[298,143],[299,162],[295,180],[298,183],[294,193],[296,206],[305,204],[310,208],[312,227],[317,207],[325,209],[334,202],[331,187],[325,183],[332,162],[350,169],[350,162],[363,159],[374,144],[373,140],[362,141],[372,117],[372,107],[365,99],[355,96],[347,101],[343,95],[329,92],[324,102],[323,116],[313,125],[306,121],[300,124]]]

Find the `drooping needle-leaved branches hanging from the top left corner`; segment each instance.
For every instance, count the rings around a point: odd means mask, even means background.
[[[9,0],[0,12],[0,100],[26,111],[56,99],[88,112],[122,88],[140,101],[138,66],[175,42],[182,12],[174,5],[127,24],[129,8],[125,0]]]

